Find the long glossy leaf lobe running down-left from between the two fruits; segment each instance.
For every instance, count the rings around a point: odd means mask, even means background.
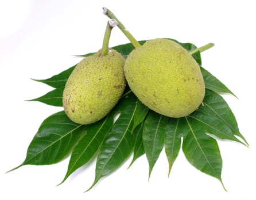
[[[131,130],[133,128],[133,117],[136,110],[137,98],[133,93],[128,94],[119,101],[114,113],[120,113],[114,126],[107,134],[96,161],[95,179],[90,190],[100,178],[112,173],[129,157],[133,150],[135,137]],[[87,191],[88,191],[87,190]]]

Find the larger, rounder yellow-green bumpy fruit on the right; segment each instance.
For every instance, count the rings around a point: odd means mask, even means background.
[[[133,93],[159,114],[184,117],[203,101],[200,67],[177,42],[162,38],[145,42],[131,51],[124,69]]]

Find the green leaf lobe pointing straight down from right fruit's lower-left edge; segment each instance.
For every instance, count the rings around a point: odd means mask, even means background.
[[[149,178],[152,169],[164,147],[165,133],[169,118],[150,110],[144,125],[142,141],[149,162]]]

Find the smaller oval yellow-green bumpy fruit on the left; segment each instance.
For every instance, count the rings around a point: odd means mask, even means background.
[[[68,117],[79,124],[90,124],[106,116],[125,89],[125,59],[110,49],[84,58],[72,71],[63,92]]]

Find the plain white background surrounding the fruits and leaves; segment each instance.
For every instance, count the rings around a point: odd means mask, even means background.
[[[131,159],[87,193],[95,161],[77,170],[63,185],[68,159],[50,166],[23,166],[26,149],[41,122],[60,107],[26,99],[51,87],[45,79],[80,61],[72,55],[101,48],[107,17],[113,11],[138,40],[174,38],[196,46],[214,42],[202,53],[203,67],[233,91],[223,97],[250,144],[218,141],[223,158],[222,179],[192,167],[182,151],[168,178],[164,151],[148,182],[143,156],[129,170]],[[256,199],[255,137],[255,2],[254,1],[50,1],[0,3],[0,199]],[[110,46],[129,42],[118,28]]]

